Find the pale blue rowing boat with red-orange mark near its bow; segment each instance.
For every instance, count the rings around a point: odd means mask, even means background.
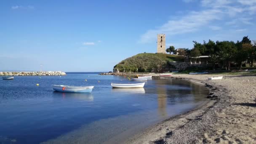
[[[94,86],[53,85],[54,91],[66,93],[91,93]]]

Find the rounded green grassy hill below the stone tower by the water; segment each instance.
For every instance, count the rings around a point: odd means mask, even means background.
[[[165,53],[139,53],[115,65],[114,72],[160,72],[168,71],[169,61],[184,61],[183,56]]]

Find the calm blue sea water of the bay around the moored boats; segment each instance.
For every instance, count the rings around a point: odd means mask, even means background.
[[[138,82],[98,73],[0,80],[0,143],[119,141],[195,108],[208,94],[203,86],[170,78],[153,78],[135,89],[112,88],[111,83]],[[92,93],[60,93],[53,84],[95,88]]]

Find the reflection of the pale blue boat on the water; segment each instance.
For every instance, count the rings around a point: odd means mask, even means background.
[[[83,101],[93,101],[92,93],[60,93],[53,91],[53,97],[62,99],[80,99]]]

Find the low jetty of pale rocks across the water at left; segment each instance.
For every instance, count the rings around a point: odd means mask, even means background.
[[[61,71],[46,71],[46,72],[0,72],[0,75],[19,75],[19,76],[29,76],[29,75],[66,75],[65,72]]]

